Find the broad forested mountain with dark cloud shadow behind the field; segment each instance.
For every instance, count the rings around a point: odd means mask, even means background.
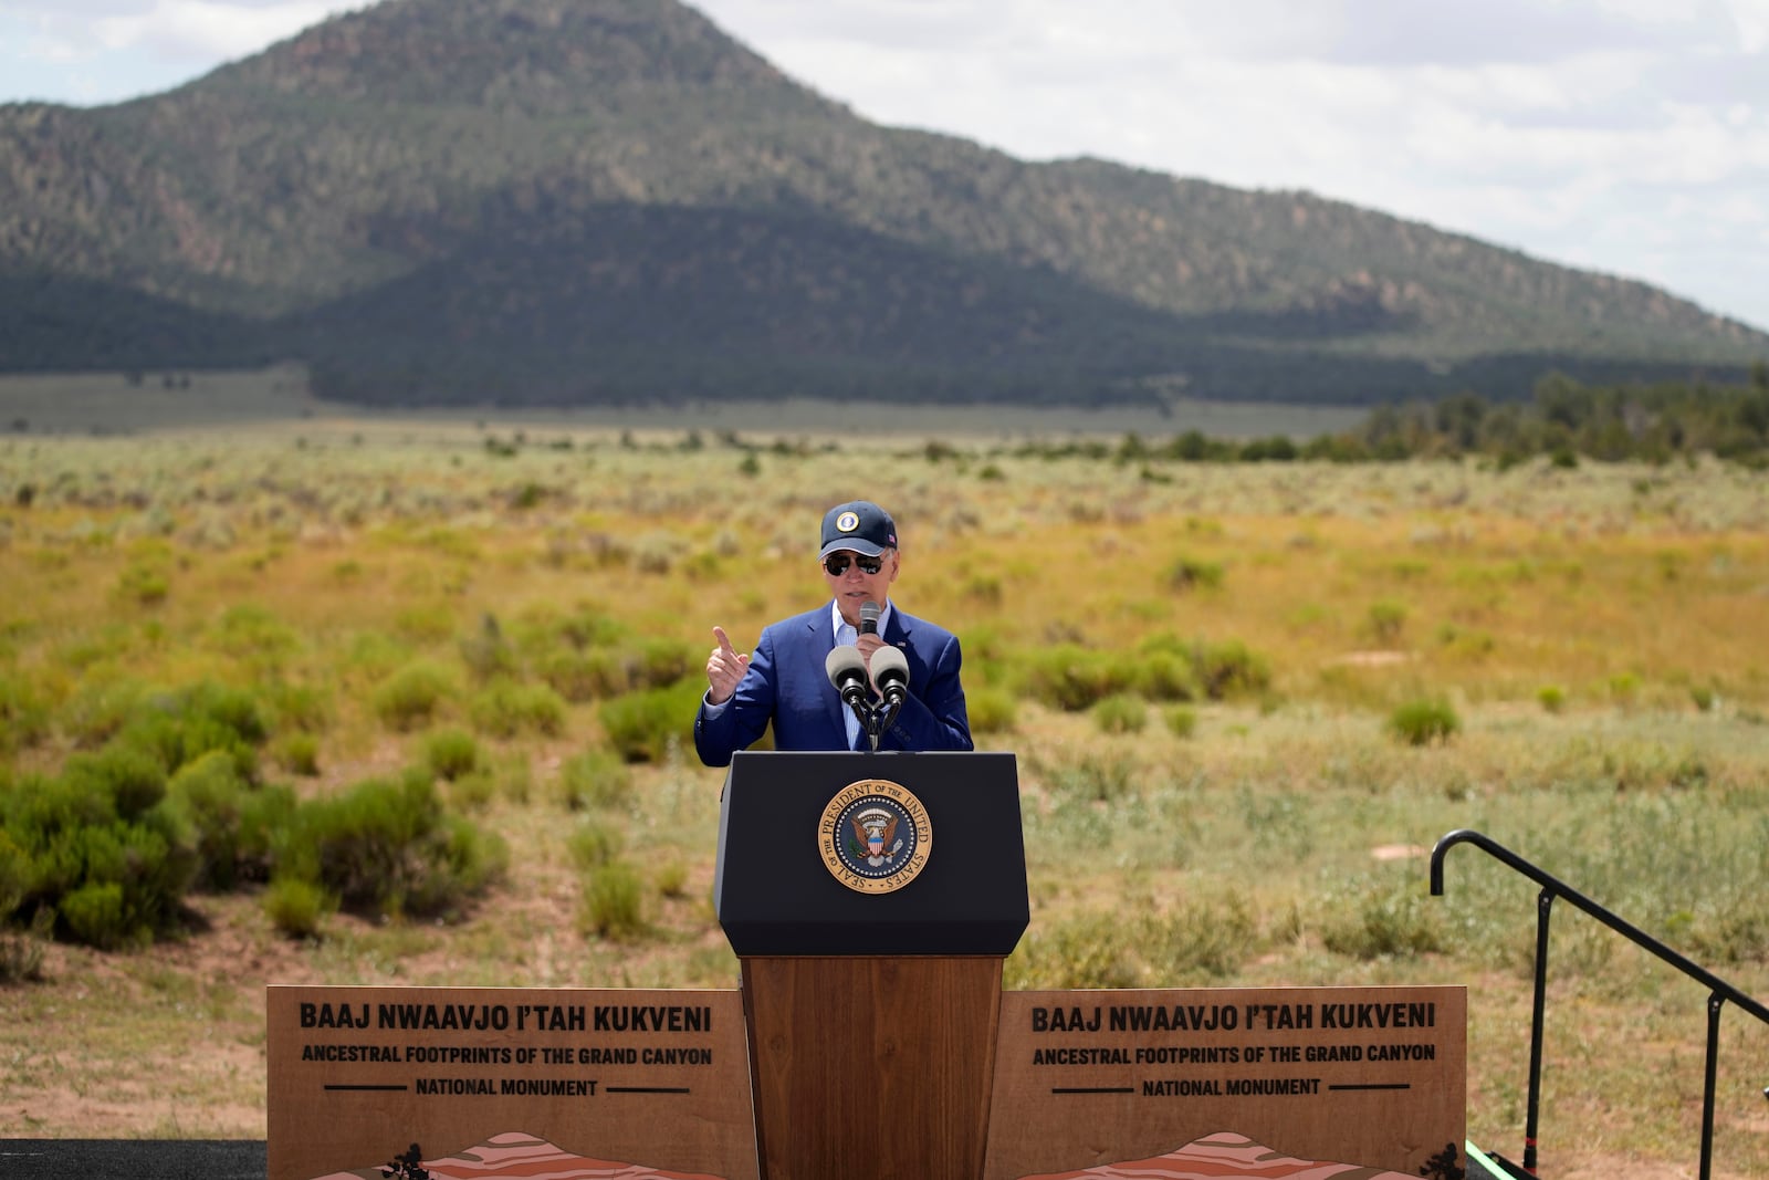
[[[4,370],[1359,403],[1764,356],[1643,283],[1306,193],[879,127],[676,0],[386,0],[168,94],[0,106]]]

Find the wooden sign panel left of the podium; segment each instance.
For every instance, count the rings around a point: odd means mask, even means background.
[[[736,991],[267,989],[267,1180],[755,1180]]]

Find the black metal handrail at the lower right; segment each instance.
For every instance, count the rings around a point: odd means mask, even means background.
[[[1548,911],[1557,897],[1564,897],[1571,904],[1578,906],[1592,918],[1610,927],[1633,945],[1642,950],[1658,955],[1670,966],[1677,968],[1693,980],[1704,984],[1707,991],[1707,1083],[1702,1092],[1702,1171],[1700,1180],[1709,1180],[1712,1159],[1714,1159],[1714,1081],[1719,1076],[1719,1010],[1730,1001],[1739,1008],[1750,1012],[1764,1024],[1769,1024],[1769,1008],[1757,1003],[1744,992],[1741,992],[1732,984],[1725,982],[1718,975],[1707,971],[1695,962],[1689,962],[1675,950],[1658,941],[1640,927],[1635,927],[1613,913],[1590,900],[1573,886],[1566,885],[1558,877],[1544,872],[1537,865],[1523,860],[1512,853],[1504,844],[1479,833],[1461,828],[1451,831],[1436,847],[1431,849],[1431,895],[1444,895],[1444,856],[1458,844],[1474,844],[1481,851],[1488,853],[1495,860],[1505,863],[1507,867],[1521,872],[1537,885],[1543,892],[1535,897],[1535,1007],[1530,1021],[1530,1093],[1528,1109],[1525,1115],[1523,1127],[1523,1169],[1532,1176],[1535,1175],[1535,1134],[1539,1130],[1541,1115],[1541,1081],[1543,1081],[1543,1014],[1548,1001]],[[1769,1099],[1769,1088],[1764,1088],[1764,1097]]]

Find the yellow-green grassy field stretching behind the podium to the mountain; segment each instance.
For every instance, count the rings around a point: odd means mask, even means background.
[[[0,989],[0,1134],[262,1136],[265,982],[734,985],[722,771],[683,755],[686,709],[612,757],[596,653],[692,701],[713,624],[747,649],[819,598],[814,529],[854,495],[902,527],[897,601],[964,640],[978,745],[1019,757],[1010,985],[1467,984],[1470,1138],[1512,1157],[1535,892],[1458,849],[1429,899],[1445,831],[1769,994],[1769,492],[1744,471],[333,414],[42,430],[0,441],[0,785],[94,748],[120,701],[219,683],[264,702],[264,778],[317,800],[423,766],[511,854],[449,922],[290,939],[248,888],[145,950],[48,946],[42,982]],[[1415,745],[1421,706],[1447,732]],[[1695,1175],[1704,991],[1571,909],[1551,964],[1544,1175]],[[1716,1175],[1765,1175],[1769,1030],[1730,1012],[1723,1044]]]

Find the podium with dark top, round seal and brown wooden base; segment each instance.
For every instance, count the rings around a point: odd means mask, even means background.
[[[1030,922],[1012,754],[739,752],[713,893],[762,1180],[975,1180]]]

